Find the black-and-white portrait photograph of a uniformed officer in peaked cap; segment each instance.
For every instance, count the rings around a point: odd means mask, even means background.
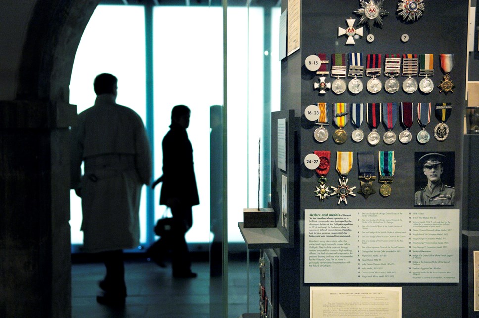
[[[414,160],[414,206],[454,205],[454,151],[417,151]]]

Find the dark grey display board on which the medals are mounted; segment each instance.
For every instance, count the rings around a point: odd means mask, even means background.
[[[369,2],[369,1],[366,1]],[[375,25],[370,30],[364,28],[362,38],[356,39],[354,45],[346,45],[346,37],[337,36],[338,27],[347,26],[346,19],[352,17],[359,22],[359,17],[353,11],[360,9],[360,2],[354,0],[303,0],[301,1],[301,48],[291,56],[282,61],[282,95],[281,109],[295,111],[295,115],[300,120],[298,129],[298,169],[299,178],[295,180],[298,186],[299,209],[299,227],[304,220],[305,209],[331,209],[333,212],[347,209],[414,209],[415,189],[415,167],[417,158],[415,154],[419,152],[447,152],[452,153],[454,167],[454,186],[455,202],[454,208],[462,208],[462,152],[463,152],[463,115],[466,89],[466,65],[467,65],[467,24],[468,24],[468,1],[425,1],[424,15],[416,22],[404,22],[396,14],[398,1],[384,1],[383,8],[389,13],[383,16],[383,26]],[[287,3],[284,3],[283,10]],[[366,40],[369,34],[374,35],[374,41]],[[407,34],[409,40],[401,41],[401,37]],[[385,54],[433,54],[434,55],[434,76],[431,78],[435,88],[429,94],[416,91],[408,94],[401,89],[390,94],[381,90],[377,94],[372,94],[363,89],[359,94],[352,94],[349,91],[336,95],[332,91],[320,94],[314,90],[314,83],[318,82],[319,76],[311,72],[304,66],[304,61],[309,55],[325,53],[331,63],[331,54],[361,52],[366,63],[367,54],[382,54],[383,61]],[[455,84],[454,92],[445,94],[440,93],[437,88],[443,79],[443,72],[440,67],[440,54],[454,54],[455,64],[451,78]],[[331,64],[328,66],[330,69]],[[382,62],[382,73],[378,77],[383,83],[388,78],[384,76],[384,63]],[[398,77],[402,84],[405,76]],[[346,81],[349,81],[347,78]],[[363,78],[363,84],[366,84],[368,77]],[[416,77],[419,81],[421,78]],[[332,82],[334,78],[327,77],[327,82]],[[297,83],[300,82],[300,87]],[[298,91],[298,89],[300,91]],[[332,111],[330,110],[330,125],[327,127],[330,137],[323,143],[317,142],[313,138],[313,132],[318,127],[304,117],[304,110],[308,105],[318,102],[326,103],[388,103],[388,102],[413,102],[432,103],[431,121],[426,130],[431,135],[431,139],[426,144],[420,144],[414,138],[408,144],[402,144],[396,141],[392,145],[387,145],[381,139],[376,146],[368,144],[366,139],[357,143],[351,140],[353,127],[349,122],[345,127],[348,134],[347,141],[343,144],[336,144],[332,135],[338,128],[332,121]],[[434,116],[434,106],[436,103],[451,103],[453,106],[452,114],[447,121],[450,133],[445,141],[438,141],[433,136],[434,126],[439,121]],[[417,112],[414,111],[414,123],[410,129],[414,137],[421,130],[416,121]],[[362,130],[366,136],[370,131],[366,120],[362,124]],[[397,121],[393,131],[396,135],[404,128],[401,126],[400,119]],[[386,128],[381,124],[378,133],[383,136]],[[273,135],[274,137],[274,135]],[[272,139],[272,143],[275,140]],[[315,197],[314,190],[318,184],[318,176],[313,170],[307,169],[302,163],[304,157],[313,151],[330,151],[331,168],[327,175],[328,185],[337,186],[339,174],[335,170],[336,152],[352,151],[353,165],[348,175],[350,186],[359,188],[357,153],[362,151],[373,152],[377,158],[378,151],[394,151],[396,166],[394,180],[391,184],[392,193],[388,197],[379,194],[380,184],[376,179],[373,186],[376,190],[374,195],[365,199],[357,194],[356,197],[349,197],[348,204],[338,205],[337,197],[329,197],[320,201]],[[376,159],[377,160],[377,159]],[[376,175],[378,176],[377,161]],[[434,207],[441,208],[441,207]],[[450,206],[448,208],[451,208]],[[462,211],[461,218],[462,218]],[[462,224],[462,222],[461,222]],[[301,231],[302,232],[302,231]],[[282,286],[288,279],[287,290],[280,286],[280,304],[288,317],[306,317],[309,313],[309,287],[311,285],[302,283],[304,275],[304,234],[299,236],[299,247],[296,252],[280,253],[280,268],[285,267],[282,263],[287,263],[290,271],[281,272],[280,279]],[[459,260],[458,260],[459,266]],[[300,279],[297,281],[297,275],[293,271],[299,271]],[[347,284],[341,284],[344,286]],[[347,286],[378,286],[378,284],[349,284]],[[316,286],[316,285],[315,285]],[[461,282],[455,284],[379,284],[379,286],[401,286],[402,310],[404,317],[433,316],[433,317],[459,317],[461,315]],[[299,299],[295,296],[299,291]],[[425,302],[425,299],[434,299],[432,302]],[[289,302],[289,303],[288,303]],[[292,303],[291,303],[292,302]],[[296,303],[297,302],[297,303]]]

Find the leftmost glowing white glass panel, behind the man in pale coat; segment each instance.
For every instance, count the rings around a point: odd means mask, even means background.
[[[70,103],[77,111],[95,102],[93,80],[100,73],[118,78],[117,103],[135,110],[146,121],[145,28],[143,6],[100,5],[78,46],[70,82]],[[146,241],[146,190],[140,203],[140,242]],[[81,200],[70,194],[72,244],[83,244]]]

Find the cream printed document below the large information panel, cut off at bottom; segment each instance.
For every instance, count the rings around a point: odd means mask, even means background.
[[[310,317],[402,317],[401,287],[310,287]]]

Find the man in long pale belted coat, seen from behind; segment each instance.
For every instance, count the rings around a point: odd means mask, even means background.
[[[142,119],[116,104],[117,78],[95,78],[95,105],[72,127],[71,188],[82,198],[83,249],[101,252],[106,266],[97,301],[123,305],[126,297],[123,249],[139,245],[143,184],[151,179],[151,149]],[[84,174],[81,164],[84,162]]]

